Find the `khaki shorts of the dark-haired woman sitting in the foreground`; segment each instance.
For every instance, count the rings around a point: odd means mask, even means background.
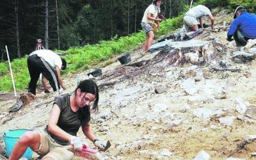
[[[74,153],[65,148],[65,146],[56,143],[46,132],[39,132],[40,146],[35,150],[37,154],[44,157],[51,157],[54,160],[72,159]]]

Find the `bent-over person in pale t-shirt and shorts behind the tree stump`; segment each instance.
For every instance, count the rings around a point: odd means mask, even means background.
[[[211,13],[211,7],[207,8],[206,6],[200,4],[191,8],[185,14],[183,22],[186,31],[198,31],[198,24],[200,24],[201,28],[204,28],[202,17],[204,17],[205,15],[207,15],[211,20],[211,28],[214,29],[214,17]]]

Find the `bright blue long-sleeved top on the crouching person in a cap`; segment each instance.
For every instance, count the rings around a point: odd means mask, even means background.
[[[231,24],[227,35],[233,36],[237,29],[241,30],[241,33],[246,38],[256,38],[256,15],[248,12],[243,12],[237,17]]]

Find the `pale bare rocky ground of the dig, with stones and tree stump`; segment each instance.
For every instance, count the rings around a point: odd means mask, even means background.
[[[216,26],[232,20],[225,10],[214,12]],[[102,76],[93,77],[100,101],[91,126],[112,143],[100,159],[256,159],[256,48],[234,47],[226,33],[205,30],[185,46],[138,49],[128,65],[116,58],[100,63],[113,61],[102,67]],[[63,92],[38,90],[36,100],[16,113],[8,113],[15,98],[1,94],[1,135],[17,128],[42,131],[54,97],[72,93],[88,72],[68,76]],[[0,151],[3,155],[2,136]]]

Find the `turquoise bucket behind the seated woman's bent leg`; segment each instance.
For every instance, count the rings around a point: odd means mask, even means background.
[[[24,134],[24,132],[31,131],[29,129],[10,129],[3,134],[4,139],[4,148],[6,152],[6,157],[10,157],[13,147],[17,140],[19,140],[20,136]],[[32,150],[30,147],[27,148],[26,152],[22,155],[22,157],[26,157],[28,159],[32,159]]]

